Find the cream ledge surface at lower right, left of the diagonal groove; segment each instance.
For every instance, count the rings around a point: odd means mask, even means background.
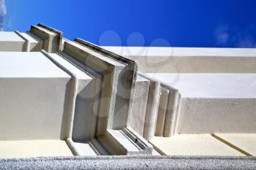
[[[151,139],[154,149],[164,155],[245,156],[209,134],[177,134]]]

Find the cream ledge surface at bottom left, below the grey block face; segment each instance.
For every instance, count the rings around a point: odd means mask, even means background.
[[[0,158],[71,155],[66,142],[61,140],[0,141]]]

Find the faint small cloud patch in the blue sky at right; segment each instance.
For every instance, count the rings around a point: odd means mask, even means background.
[[[219,26],[215,31],[218,45],[226,45],[229,39],[228,26]]]

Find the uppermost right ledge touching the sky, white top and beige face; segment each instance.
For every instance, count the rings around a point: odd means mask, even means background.
[[[138,71],[156,73],[255,73],[254,48],[104,47],[138,61]]]

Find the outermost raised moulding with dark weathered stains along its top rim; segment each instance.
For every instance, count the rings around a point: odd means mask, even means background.
[[[108,56],[108,58],[112,58],[113,60],[123,63],[125,65],[118,78],[118,88],[116,96],[117,102],[115,106],[113,123],[109,123],[108,125],[112,124],[114,129],[126,127],[127,117],[132,114],[131,100],[134,95],[135,80],[137,76],[136,72],[138,69],[137,63],[130,60],[129,58],[124,58],[121,55],[117,55],[116,53],[112,53],[108,50],[103,49],[102,47],[93,45],[90,42],[86,42],[83,39],[76,38],[74,41],[80,45],[83,45],[84,47]]]

